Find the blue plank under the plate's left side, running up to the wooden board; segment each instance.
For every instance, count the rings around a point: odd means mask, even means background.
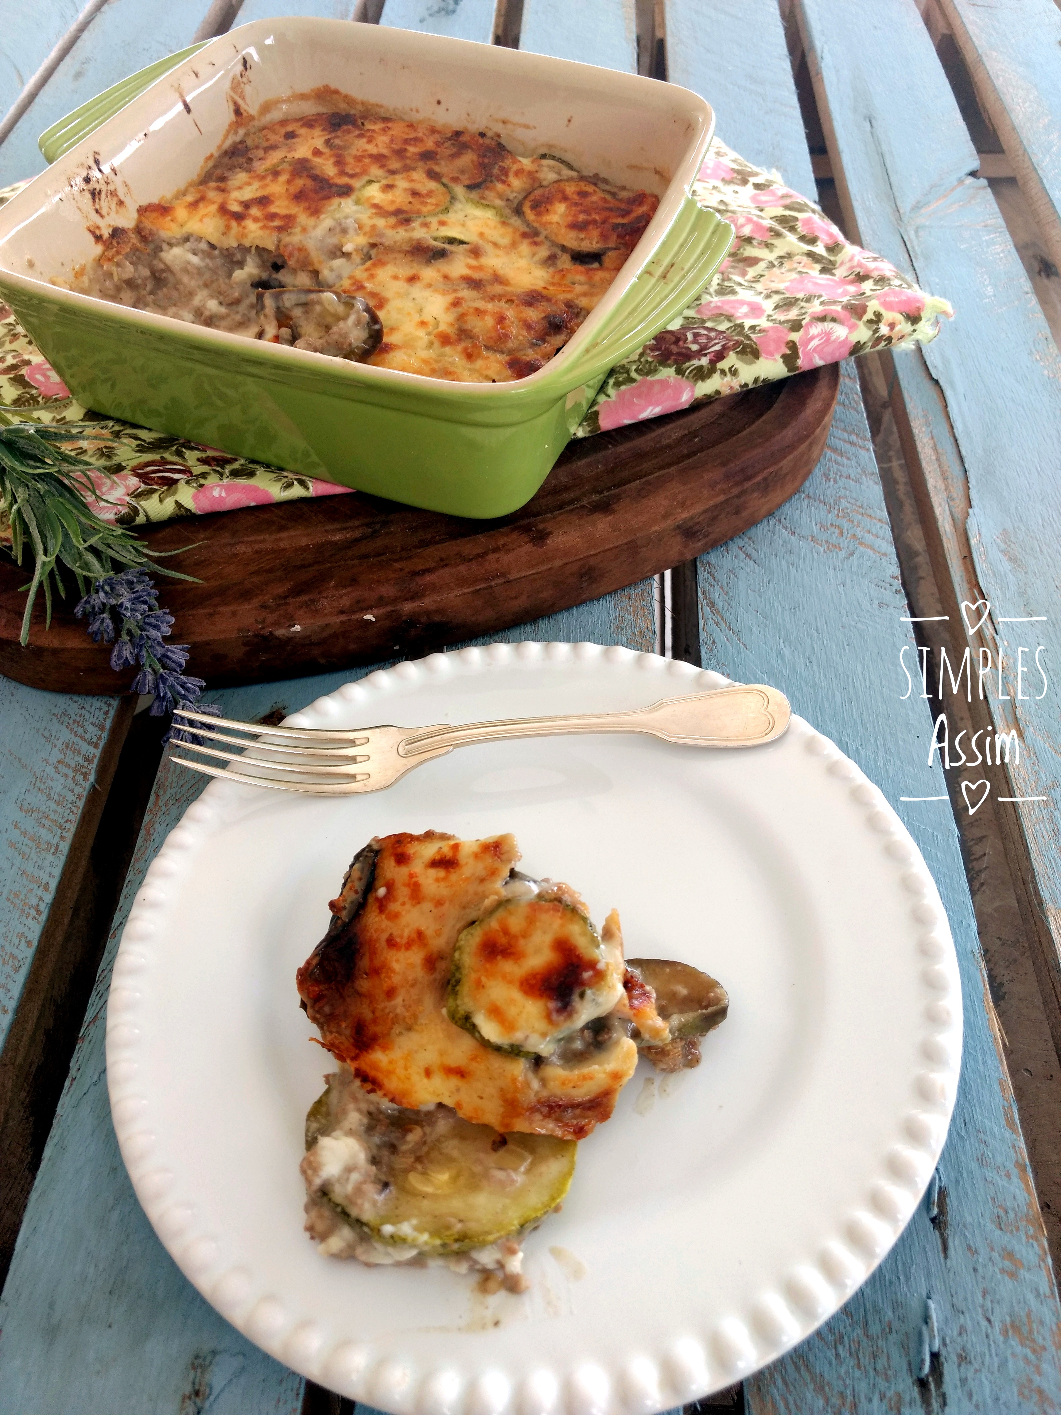
[[[505,637],[651,651],[652,583]],[[296,712],[369,671],[211,696],[228,713],[255,719]],[[74,1404],[78,1415],[300,1409],[303,1381],[228,1326],[170,1261],[136,1201],[110,1125],[105,1005],[117,937],[144,870],[201,790],[198,777],[170,766],[156,782],[0,1300],[0,1415],[54,1415]]]

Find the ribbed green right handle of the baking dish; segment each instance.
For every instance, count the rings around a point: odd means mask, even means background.
[[[648,258],[627,294],[556,375],[567,388],[589,383],[621,364],[676,320],[702,294],[733,243],[733,226],[686,195],[673,225]]]

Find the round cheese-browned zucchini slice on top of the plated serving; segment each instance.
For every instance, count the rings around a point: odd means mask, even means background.
[[[550,1056],[622,996],[622,949],[569,900],[504,900],[457,938],[446,1010],[498,1051]]]

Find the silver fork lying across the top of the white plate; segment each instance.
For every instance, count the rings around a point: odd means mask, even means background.
[[[424,761],[444,757],[454,747],[505,737],[552,737],[574,732],[644,732],[688,747],[757,747],[788,727],[788,699],[761,683],[720,688],[689,698],[666,698],[635,712],[577,713],[569,717],[509,717],[504,722],[470,722],[434,727],[354,727],[328,732],[320,727],[262,727],[257,723],[212,717],[178,709],[178,727],[190,727],[208,741],[242,751],[180,743],[178,750],[225,761],[190,761],[170,754],[170,761],[208,777],[243,781],[274,791],[310,795],[352,795],[382,791]],[[233,737],[218,729],[248,733]],[[233,764],[240,770],[233,770]],[[249,770],[248,770],[249,768]]]

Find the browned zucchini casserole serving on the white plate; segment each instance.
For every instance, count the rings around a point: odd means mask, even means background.
[[[515,869],[512,835],[373,839],[298,992],[340,1063],[306,1124],[307,1231],[328,1257],[444,1262],[523,1289],[522,1237],[644,1054],[673,1071],[726,1016],[688,964],[624,961],[613,910]]]

